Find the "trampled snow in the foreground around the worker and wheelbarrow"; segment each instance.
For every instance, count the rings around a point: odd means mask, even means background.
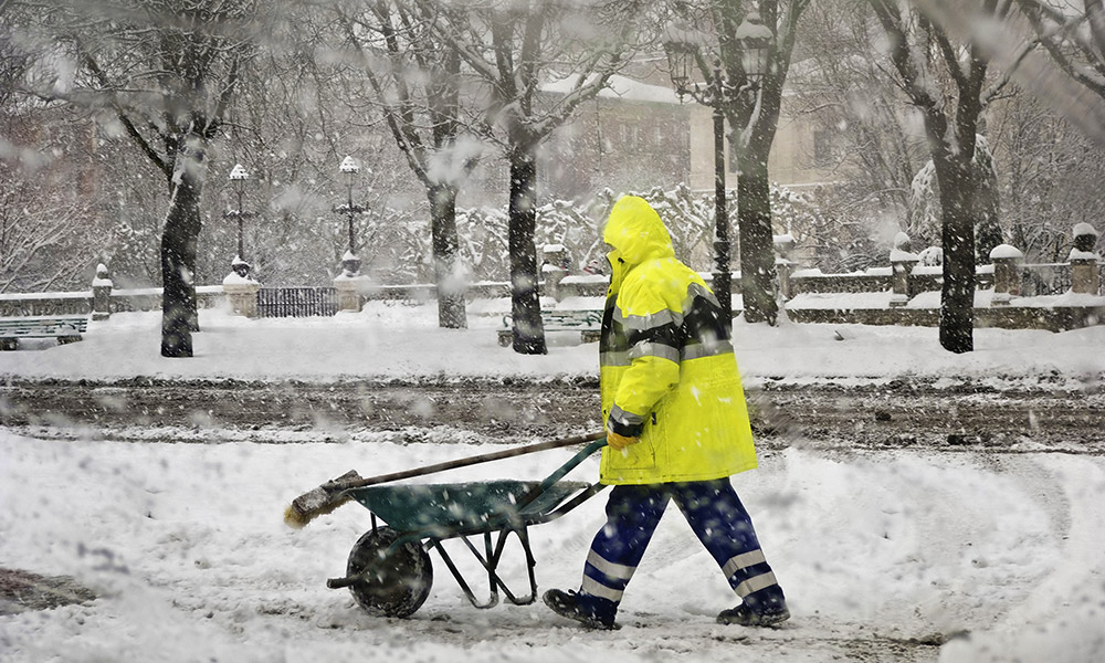
[[[735,485],[794,615],[768,631],[714,623],[734,597],[674,507],[613,633],[580,631],[540,604],[476,610],[436,556],[432,593],[412,619],[370,618],[324,586],[343,571],[368,513],[348,505],[302,532],[281,522],[292,497],[348,469],[378,474],[486,450],[382,439],[67,442],[0,430],[0,566],[74,575],[102,596],[0,618],[0,657],[1055,663],[1105,652],[1098,456],[762,454],[760,470]],[[545,452],[440,481],[536,478],[567,455]],[[571,477],[596,472],[585,463]],[[577,586],[603,502],[532,529],[543,590]],[[506,573],[522,588],[515,552]],[[478,588],[466,555],[454,546]],[[970,635],[954,636],[964,631]]]

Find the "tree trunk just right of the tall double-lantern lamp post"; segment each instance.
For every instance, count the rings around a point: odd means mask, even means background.
[[[768,144],[770,146],[770,144]],[[771,231],[771,189],[767,157],[740,155],[737,178],[737,231],[740,238],[740,293],[745,322],[775,325],[775,238]]]

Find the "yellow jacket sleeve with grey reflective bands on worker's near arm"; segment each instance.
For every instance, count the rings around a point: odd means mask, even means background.
[[[627,283],[618,296],[619,317],[629,343],[630,366],[618,385],[607,428],[641,434],[656,402],[680,380],[680,325],[655,283]]]

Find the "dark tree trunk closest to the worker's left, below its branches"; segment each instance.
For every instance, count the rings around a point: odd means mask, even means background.
[[[541,303],[537,293],[537,156],[534,147],[511,150],[511,316],[514,319],[514,351],[546,355]]]

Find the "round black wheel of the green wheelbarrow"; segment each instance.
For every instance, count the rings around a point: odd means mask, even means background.
[[[430,555],[418,541],[397,548],[399,533],[390,527],[366,532],[349,552],[347,576],[362,576],[349,586],[357,604],[375,617],[410,617],[422,607],[433,585]]]

